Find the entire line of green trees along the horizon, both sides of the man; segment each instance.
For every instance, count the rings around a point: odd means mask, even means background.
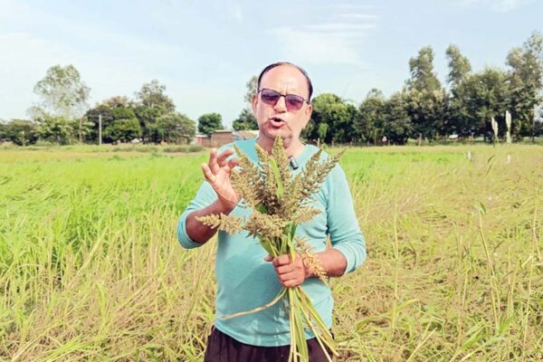
[[[402,90],[386,97],[373,89],[359,104],[332,93],[312,100],[313,114],[302,137],[325,143],[402,145],[407,139],[505,138],[506,111],[514,139],[543,135],[543,35],[531,34],[522,46],[510,50],[506,68],[485,67],[472,71],[460,49],[446,50],[446,83],[433,69],[431,46],[409,60],[409,78]],[[251,100],[257,77],[246,83],[246,107],[233,120],[233,129],[257,129]],[[197,121],[178,112],[158,81],[142,85],[133,99],[111,97],[88,107],[90,89],[81,74],[68,65],[52,66],[34,86],[41,102],[29,110],[30,120],[0,123],[0,139],[19,145],[38,140],[55,144],[128,142],[190,143],[198,132],[211,135],[224,129],[218,113],[206,113]],[[539,120],[537,121],[539,117]],[[491,122],[498,125],[494,135]]]

